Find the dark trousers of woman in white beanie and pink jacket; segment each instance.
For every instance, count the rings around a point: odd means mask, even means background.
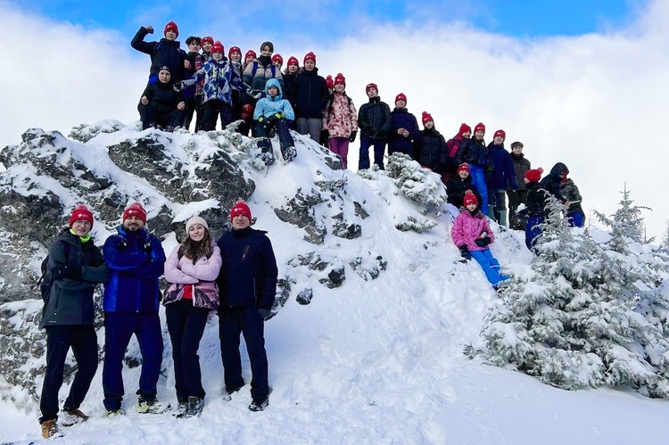
[[[209,312],[209,309],[195,308],[192,300],[174,301],[165,306],[174,360],[174,386],[179,403],[188,401],[188,396],[204,399],[197,350],[200,349]]]

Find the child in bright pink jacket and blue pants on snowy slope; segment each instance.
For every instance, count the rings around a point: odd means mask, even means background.
[[[460,212],[450,228],[453,243],[458,246],[462,258],[476,260],[492,287],[497,289],[500,281],[508,279],[508,276],[500,273],[500,262],[492,256],[488,247],[495,241],[495,236],[488,219],[479,209],[476,195],[467,190],[462,201],[466,210]]]

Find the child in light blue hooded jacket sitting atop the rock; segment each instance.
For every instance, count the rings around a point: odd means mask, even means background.
[[[285,161],[293,161],[293,158],[297,156],[293,136],[289,130],[295,119],[293,106],[282,98],[281,84],[276,78],[268,79],[265,84],[265,95],[256,103],[255,111],[253,111],[255,136],[260,138],[258,145],[262,150],[259,157],[265,162],[265,165],[274,163],[272,145],[268,139],[269,132],[274,129],[279,136],[281,154]]]

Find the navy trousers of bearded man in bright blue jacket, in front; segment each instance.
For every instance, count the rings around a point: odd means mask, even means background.
[[[136,335],[142,353],[142,373],[139,376],[140,396],[155,397],[161,373],[162,332],[158,312],[104,313],[104,408],[120,408],[123,388],[123,358],[132,334]]]

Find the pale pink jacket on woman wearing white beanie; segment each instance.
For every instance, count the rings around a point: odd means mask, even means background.
[[[181,300],[186,285],[193,285],[193,305],[196,308],[219,309],[219,289],[216,278],[219,276],[222,260],[220,249],[214,245],[211,258],[200,257],[193,260],[178,258],[181,245],[174,248],[165,262],[165,279],[169,287],[165,291],[163,304]]]

